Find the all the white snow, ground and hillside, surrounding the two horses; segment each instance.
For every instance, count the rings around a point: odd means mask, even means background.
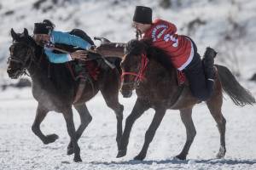
[[[256,72],[256,2],[252,0],[201,0],[182,1],[181,6],[174,3],[172,8],[159,7],[158,1],[150,0],[59,0],[42,3],[37,10],[32,8],[32,0],[0,1],[0,85],[16,82],[6,74],[6,60],[9,56],[10,28],[32,32],[34,22],[49,18],[56,29],[70,31],[78,27],[91,37],[103,36],[113,42],[127,42],[134,37],[131,28],[131,17],[136,5],[146,5],[154,9],[154,18],[171,20],[177,25],[178,32],[187,34],[191,20],[200,18],[206,25],[192,31],[192,37],[199,52],[210,45],[218,50],[217,63],[227,65],[237,71],[236,63],[224,63],[224,59],[234,57],[239,61],[238,78],[241,84],[256,96],[255,82],[247,79]],[[172,0],[172,2],[176,2]],[[232,3],[233,2],[233,3]],[[43,8],[52,7],[44,13]],[[13,10],[14,14],[5,13]],[[230,20],[235,20],[244,30],[232,30]],[[245,33],[239,35],[244,31]],[[228,42],[227,34],[234,38]],[[231,53],[232,52],[232,53]],[[0,90],[0,169],[256,169],[256,108],[247,105],[237,107],[225,96],[223,114],[227,120],[226,147],[223,159],[216,159],[219,148],[219,134],[212,116],[204,104],[196,105],[193,119],[197,134],[189,150],[187,161],[174,159],[183,148],[185,128],[177,111],[167,111],[157,130],[153,142],[148,148],[144,161],[133,161],[143,146],[144,134],[152,121],[154,110],[144,113],[131,131],[127,155],[115,158],[116,118],[97,94],[88,102],[88,109],[93,117],[84,131],[79,146],[83,162],[74,163],[73,156],[67,156],[69,137],[66,123],[61,114],[50,112],[41,125],[45,134],[56,133],[59,139],[55,143],[44,145],[32,133],[31,126],[37,108],[30,88],[7,88]],[[136,94],[130,99],[122,98],[125,105],[125,118],[130,114],[136,100]],[[79,115],[74,111],[76,127],[79,126]]]

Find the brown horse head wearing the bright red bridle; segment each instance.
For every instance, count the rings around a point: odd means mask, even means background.
[[[139,87],[148,65],[147,51],[149,45],[143,40],[133,39],[125,44],[125,56],[121,62],[121,94],[131,97],[132,90]]]

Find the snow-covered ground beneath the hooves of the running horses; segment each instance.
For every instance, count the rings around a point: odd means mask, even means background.
[[[256,94],[256,88],[253,94]],[[126,117],[136,95],[123,99],[120,94],[119,99],[125,105]],[[102,95],[98,94],[88,103],[93,120],[79,140],[81,163],[74,163],[73,156],[66,155],[69,137],[61,114],[50,112],[42,124],[45,134],[59,135],[60,139],[55,143],[44,145],[32,133],[37,103],[32,99],[29,88],[9,88],[0,93],[0,102],[0,169],[256,169],[256,108],[236,107],[230,99],[224,100],[223,106],[227,119],[227,153],[224,159],[215,158],[219,147],[218,129],[206,105],[201,104],[194,109],[197,135],[187,161],[173,159],[186,138],[177,111],[167,111],[146,159],[133,161],[132,158],[142,148],[154,111],[147,111],[137,120],[131,131],[127,156],[117,159],[115,116],[104,103]],[[75,112],[74,116],[78,126],[78,113]]]

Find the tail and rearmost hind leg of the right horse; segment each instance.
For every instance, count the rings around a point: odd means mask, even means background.
[[[207,100],[207,106],[218,125],[218,132],[220,133],[220,148],[217,154],[218,158],[222,158],[225,155],[225,128],[226,120],[221,112],[223,96],[222,88],[230,96],[230,99],[236,105],[253,105],[255,99],[247,89],[243,88],[239,82],[236,81],[236,77],[230,72],[230,70],[223,65],[216,65],[218,69],[218,77],[215,80],[214,92],[211,99]]]

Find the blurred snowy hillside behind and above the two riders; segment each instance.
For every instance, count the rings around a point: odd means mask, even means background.
[[[1,71],[6,69],[11,28],[19,32],[26,27],[32,34],[35,22],[49,19],[56,30],[80,28],[90,37],[127,42],[135,37],[131,21],[136,5],[153,8],[154,19],[174,23],[179,34],[195,40],[201,54],[207,46],[215,48],[217,62],[229,66],[236,76],[250,78],[256,72],[253,0],[1,0]]]

